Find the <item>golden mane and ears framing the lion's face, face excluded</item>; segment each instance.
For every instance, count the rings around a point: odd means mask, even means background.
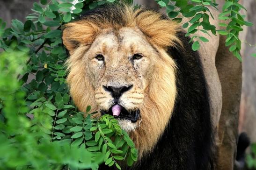
[[[176,64],[168,56],[166,49],[168,46],[181,45],[176,36],[180,26],[155,11],[121,5],[108,8],[105,14],[88,14],[79,21],[66,24],[63,28],[63,43],[70,51],[70,58],[67,60],[69,71],[67,83],[73,100],[81,111],[85,111],[87,105],[98,109],[94,88],[90,84],[90,78],[84,74],[86,69],[81,60],[84,52],[103,29],[118,30],[123,27],[139,28],[161,56],[140,108],[139,127],[130,133],[141,157],[153,149],[167,126],[174,108]]]

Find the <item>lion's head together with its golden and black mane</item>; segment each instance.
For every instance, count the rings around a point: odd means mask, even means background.
[[[215,168],[211,98],[185,34],[159,12],[123,4],[63,27],[74,103],[115,116],[139,151],[139,161],[123,169]]]

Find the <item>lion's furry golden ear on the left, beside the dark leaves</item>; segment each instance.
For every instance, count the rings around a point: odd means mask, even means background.
[[[62,29],[62,41],[70,54],[80,44],[91,44],[99,28],[88,21],[75,21],[65,24]]]

